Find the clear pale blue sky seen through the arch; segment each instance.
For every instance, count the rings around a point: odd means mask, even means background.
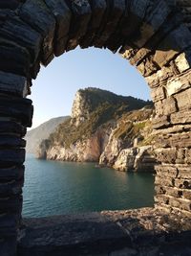
[[[124,96],[150,99],[149,87],[126,59],[108,50],[79,48],[54,58],[32,85],[32,128],[57,116],[70,115],[79,88],[98,87]]]

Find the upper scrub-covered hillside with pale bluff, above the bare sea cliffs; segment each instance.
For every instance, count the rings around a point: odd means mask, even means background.
[[[51,134],[50,143],[68,148],[76,141],[90,137],[107,122],[117,121],[123,114],[146,105],[152,106],[152,103],[96,88],[80,89],[75,94],[71,119]]]

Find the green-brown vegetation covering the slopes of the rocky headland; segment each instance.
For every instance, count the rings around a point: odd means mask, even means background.
[[[85,118],[79,120],[77,125],[77,117],[70,118],[59,125],[50,135],[49,143],[46,142],[49,147],[60,145],[69,148],[76,141],[89,138],[98,128],[108,128],[117,121],[121,125],[116,131],[116,136],[124,140],[133,138],[144,125],[143,123],[133,125],[132,121],[139,122],[148,119],[152,113],[152,110],[143,110],[141,113],[138,110],[135,111],[146,105],[152,108],[152,103],[149,101],[118,96],[112,92],[96,88],[79,90],[77,93],[80,95],[81,101],[77,103],[82,109],[80,114]],[[41,145],[41,147],[43,146],[45,147],[45,144]]]

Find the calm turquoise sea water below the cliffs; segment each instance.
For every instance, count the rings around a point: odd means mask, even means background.
[[[38,160],[27,155],[24,217],[43,217],[154,204],[152,174],[121,173],[93,163]]]

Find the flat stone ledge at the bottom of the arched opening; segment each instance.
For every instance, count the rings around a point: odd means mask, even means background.
[[[190,220],[153,208],[26,219],[18,256],[183,256],[190,238]]]

